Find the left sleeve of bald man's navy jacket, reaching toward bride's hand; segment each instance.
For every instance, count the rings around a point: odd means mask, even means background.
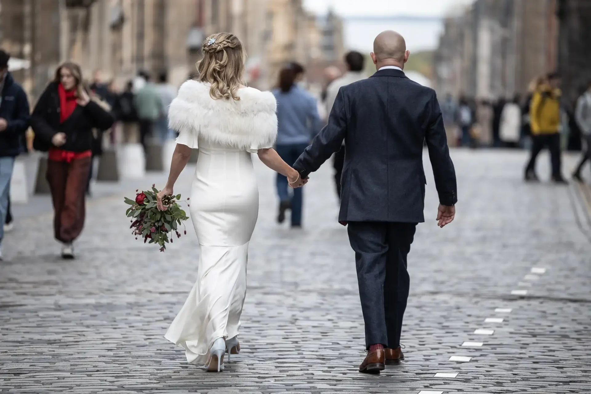
[[[306,178],[310,172],[318,170],[333,153],[338,151],[346,133],[345,97],[343,89],[340,89],[335,99],[335,105],[330,111],[329,123],[324,126],[312,144],[306,148],[293,165],[293,168],[300,172],[300,177]]]

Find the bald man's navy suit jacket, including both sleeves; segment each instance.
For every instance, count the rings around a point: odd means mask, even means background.
[[[340,222],[424,222],[424,141],[440,203],[456,204],[456,173],[437,97],[404,72],[384,69],[343,86],[328,125],[293,167],[307,177],[343,139]]]

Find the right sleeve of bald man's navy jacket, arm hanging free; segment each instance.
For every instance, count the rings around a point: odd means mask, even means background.
[[[441,109],[439,108],[435,93],[433,93],[430,106],[431,113],[425,140],[427,142],[431,167],[433,167],[435,187],[437,188],[437,194],[439,194],[440,204],[452,206],[457,203],[456,170],[453,167],[452,158],[449,155]]]

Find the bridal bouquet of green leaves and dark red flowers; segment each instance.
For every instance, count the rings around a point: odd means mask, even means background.
[[[178,226],[189,217],[177,203],[181,198],[180,194],[164,196],[162,202],[167,209],[159,210],[156,206],[158,189],[154,186],[155,184],[152,185],[151,191],[138,193],[136,190],[135,200],[125,197],[125,203],[131,205],[125,213],[127,217],[131,217],[129,228],[133,229],[132,234],[135,235],[135,239],[142,237],[144,243],[148,240],[150,240],[148,243],[157,243],[160,245],[160,252],[164,252],[165,243],[173,242],[173,232],[177,238],[180,238],[181,233],[178,232]],[[184,230],[184,233],[186,234],[187,230]]]

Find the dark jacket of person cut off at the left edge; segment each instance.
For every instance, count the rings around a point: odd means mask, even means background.
[[[6,119],[8,126],[0,131],[0,157],[15,157],[25,151],[25,131],[29,127],[29,102],[25,91],[7,73],[2,88],[0,118]]]

